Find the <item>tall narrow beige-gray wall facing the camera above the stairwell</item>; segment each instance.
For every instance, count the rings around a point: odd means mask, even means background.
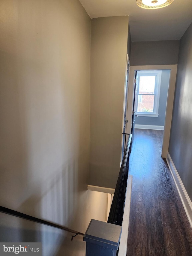
[[[89,185],[115,188],[119,174],[128,19],[91,20]]]

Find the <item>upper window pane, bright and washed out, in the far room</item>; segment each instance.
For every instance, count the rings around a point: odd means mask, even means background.
[[[139,79],[139,94],[154,94],[155,93],[155,76],[140,76]]]

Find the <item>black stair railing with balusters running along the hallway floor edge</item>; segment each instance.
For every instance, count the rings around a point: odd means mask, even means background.
[[[111,204],[111,209],[108,217],[109,223],[117,224],[122,226],[123,222],[123,212],[125,205],[125,194],[127,188],[127,179],[129,171],[129,155],[131,152],[131,138],[132,134],[129,134],[127,146],[125,148],[122,165],[119,171],[119,176],[117,179],[117,184],[115,188],[115,193],[113,196],[113,202]]]

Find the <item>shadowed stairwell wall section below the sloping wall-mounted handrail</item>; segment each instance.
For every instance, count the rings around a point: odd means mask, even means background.
[[[71,241],[72,233],[0,213],[0,242],[41,242],[45,256],[84,256],[82,236]],[[26,227],[26,228],[24,228]]]

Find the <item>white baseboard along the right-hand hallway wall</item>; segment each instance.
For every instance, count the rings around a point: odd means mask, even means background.
[[[179,176],[179,173],[173,163],[173,160],[171,159],[171,156],[169,154],[169,152],[167,152],[167,157],[166,157],[166,160],[167,160],[167,164],[170,168],[170,171],[171,171],[171,174],[173,176],[173,179],[174,179],[174,182],[175,182],[175,185],[177,187],[177,190],[179,192],[179,196],[181,198],[181,201],[182,201],[182,204],[183,204],[183,207],[184,207],[184,210],[186,212],[186,215],[187,215],[187,218],[189,220],[189,223],[192,227],[192,202],[189,198],[189,195],[187,194],[187,191],[183,185],[183,182]]]

